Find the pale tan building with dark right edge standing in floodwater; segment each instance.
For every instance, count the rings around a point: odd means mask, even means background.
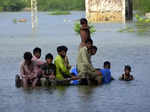
[[[125,22],[132,19],[132,0],[86,0],[90,22]]]

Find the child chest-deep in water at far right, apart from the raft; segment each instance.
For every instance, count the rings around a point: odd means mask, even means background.
[[[126,65],[124,67],[124,74],[119,78],[119,80],[125,80],[125,81],[130,81],[134,80],[134,77],[130,74],[131,72],[131,67],[129,65]]]

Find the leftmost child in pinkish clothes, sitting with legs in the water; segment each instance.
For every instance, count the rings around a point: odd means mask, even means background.
[[[20,75],[23,80],[24,88],[28,87],[29,82],[32,83],[32,88],[36,86],[36,83],[38,81],[36,65],[35,62],[32,61],[32,54],[30,52],[24,53],[24,61],[22,62],[20,67]]]

